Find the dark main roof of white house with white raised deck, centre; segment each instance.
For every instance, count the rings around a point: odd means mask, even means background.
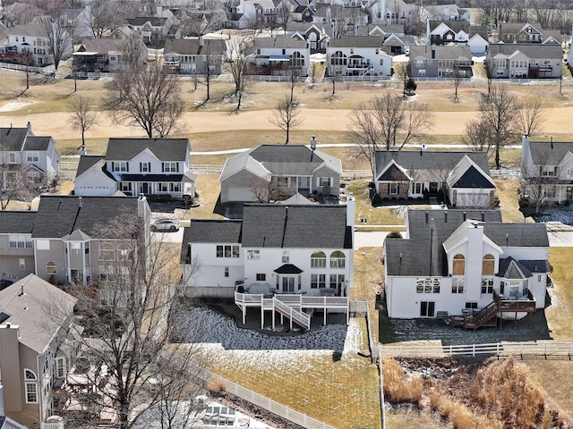
[[[245,204],[244,248],[352,248],[346,206]]]

